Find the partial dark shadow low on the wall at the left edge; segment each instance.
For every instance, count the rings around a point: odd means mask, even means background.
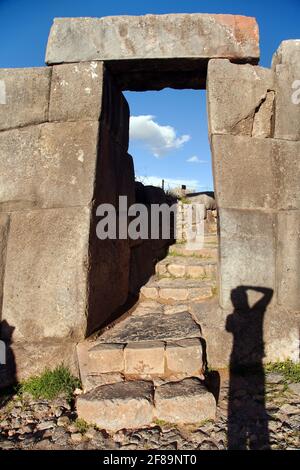
[[[14,330],[6,320],[0,322],[0,406],[3,404],[1,391],[17,383],[16,360],[11,347]]]

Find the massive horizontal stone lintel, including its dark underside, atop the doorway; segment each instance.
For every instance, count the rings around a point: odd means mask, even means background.
[[[251,17],[210,14],[56,18],[46,62],[105,61],[122,89],[205,88],[209,59],[259,60]]]

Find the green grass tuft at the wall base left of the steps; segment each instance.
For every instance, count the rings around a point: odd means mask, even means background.
[[[61,364],[54,370],[45,369],[41,375],[22,382],[18,387],[18,394],[20,396],[30,394],[35,399],[45,398],[47,400],[64,396],[70,400],[77,387],[80,387],[80,381]]]

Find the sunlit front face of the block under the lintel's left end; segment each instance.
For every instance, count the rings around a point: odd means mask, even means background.
[[[55,65],[49,121],[98,121],[102,108],[103,62]]]

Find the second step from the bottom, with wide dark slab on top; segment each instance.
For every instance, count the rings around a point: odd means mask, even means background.
[[[201,330],[187,309],[184,304],[142,302],[98,338],[79,343],[84,390],[124,378],[203,377]]]

